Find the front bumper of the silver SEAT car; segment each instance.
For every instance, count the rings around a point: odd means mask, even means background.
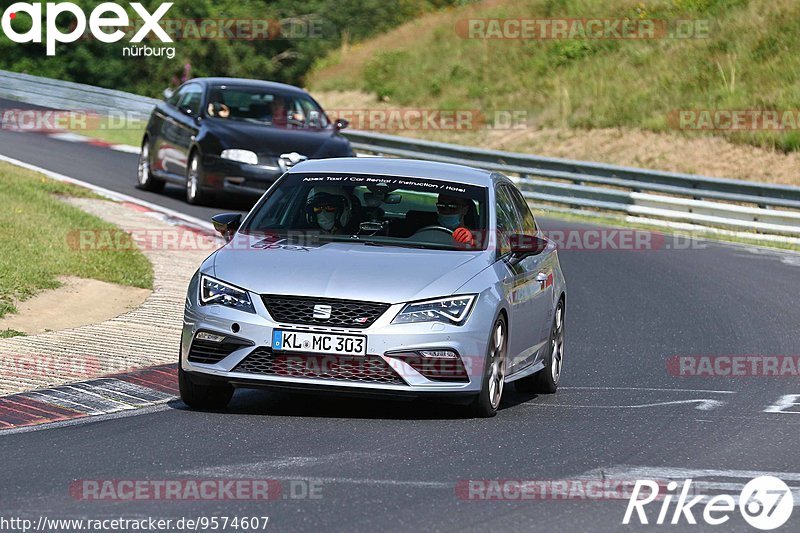
[[[324,328],[320,326],[278,324],[267,312],[261,298],[251,293],[256,313],[238,311],[220,305],[199,305],[197,301],[197,277],[192,281],[186,300],[183,334],[181,339],[181,366],[197,381],[224,381],[241,387],[267,387],[306,391],[338,391],[346,393],[374,393],[387,396],[459,396],[472,395],[480,391],[485,370],[485,354],[495,309],[491,303],[478,298],[470,317],[461,326],[441,323],[392,324],[391,321],[404,304],[395,304],[368,328]],[[300,375],[254,374],[243,372],[239,367],[256,350],[270,349],[273,329],[331,332],[365,335],[367,337],[366,359],[378,358],[380,364],[388,366],[399,376],[393,383],[373,383],[357,379],[330,377],[304,377]],[[235,330],[235,332],[234,332]],[[189,355],[195,335],[200,331],[214,332],[235,337],[241,346],[216,363],[190,361]],[[414,350],[449,349],[456,352],[463,364],[466,377],[462,380],[429,379],[397,352]],[[275,352],[275,357],[304,357],[303,354]],[[327,356],[313,356],[325,358]],[[312,357],[312,358],[313,358]],[[349,362],[359,365],[357,356]],[[354,362],[355,361],[355,362]],[[379,361],[374,361],[378,363]],[[369,365],[367,365],[369,367]],[[239,368],[237,368],[239,367]]]

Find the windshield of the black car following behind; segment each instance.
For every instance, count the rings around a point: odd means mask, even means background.
[[[278,128],[326,128],[329,124],[322,109],[302,94],[214,85],[208,96],[211,117]]]

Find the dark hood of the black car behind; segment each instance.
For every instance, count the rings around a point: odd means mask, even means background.
[[[240,120],[207,119],[207,127],[221,139],[224,148],[251,150],[279,156],[297,152],[310,159],[350,155],[347,140],[331,128],[289,129],[252,124]]]

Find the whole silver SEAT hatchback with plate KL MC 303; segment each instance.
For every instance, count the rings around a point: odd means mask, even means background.
[[[555,392],[566,284],[507,177],[402,159],[307,161],[192,278],[182,400],[236,387],[455,398],[493,416],[504,384]]]

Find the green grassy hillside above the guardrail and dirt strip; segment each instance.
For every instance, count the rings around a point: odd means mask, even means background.
[[[467,18],[708,21],[708,38],[485,40]],[[401,106],[523,110],[533,127],[664,131],[674,110],[800,108],[800,2],[500,0],[429,14],[320,60],[312,90],[361,90]],[[712,132],[687,133],[690,136]],[[800,131],[724,134],[800,150]]]

